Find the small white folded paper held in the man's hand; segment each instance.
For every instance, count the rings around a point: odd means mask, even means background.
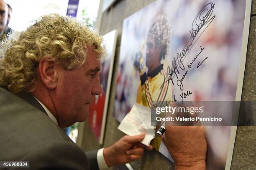
[[[146,136],[141,143],[149,146],[150,141],[155,137],[156,129],[156,126],[151,126],[151,109],[139,104],[133,105],[118,129],[130,136],[145,132]]]

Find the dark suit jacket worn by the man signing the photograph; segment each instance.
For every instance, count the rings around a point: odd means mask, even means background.
[[[94,170],[96,157],[97,151],[85,154],[74,144],[30,93],[18,97],[0,87],[1,161],[29,161],[33,169]]]

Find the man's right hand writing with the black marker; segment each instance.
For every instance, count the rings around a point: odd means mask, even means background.
[[[166,125],[165,128],[161,140],[172,155],[175,169],[205,170],[207,143],[204,127]]]

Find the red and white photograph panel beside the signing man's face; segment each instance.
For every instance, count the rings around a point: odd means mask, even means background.
[[[93,102],[90,104],[88,123],[95,135],[95,139],[102,144],[105,131],[105,122],[108,110],[108,101],[110,95],[110,84],[113,73],[113,64],[115,57],[115,46],[117,40],[117,30],[113,30],[103,35],[103,43],[107,50],[107,56],[104,57],[99,77],[102,86],[102,94],[95,95]]]

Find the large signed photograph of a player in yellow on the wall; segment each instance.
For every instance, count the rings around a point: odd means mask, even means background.
[[[114,116],[134,103],[234,101],[246,0],[158,0],[126,18],[118,63]],[[248,37],[246,37],[248,38]],[[231,126],[205,126],[207,169],[225,169]],[[233,141],[234,143],[234,141]],[[152,145],[172,160],[160,138]],[[232,154],[231,154],[232,155]]]

